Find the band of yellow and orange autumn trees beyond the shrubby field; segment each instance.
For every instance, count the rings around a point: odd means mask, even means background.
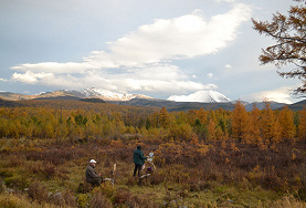
[[[267,146],[282,141],[306,142],[306,110],[287,107],[273,111],[256,106],[246,112],[242,102],[234,110],[190,110],[156,112],[136,108],[101,108],[99,111],[59,110],[49,107],[1,107],[0,137],[42,139],[126,139],[140,137],[175,141],[223,141]]]

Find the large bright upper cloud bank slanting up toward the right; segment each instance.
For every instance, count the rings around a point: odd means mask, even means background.
[[[235,39],[238,27],[250,19],[250,8],[236,4],[224,14],[207,21],[199,10],[175,19],[158,19],[109,43],[113,58],[123,65],[192,59],[225,48]]]

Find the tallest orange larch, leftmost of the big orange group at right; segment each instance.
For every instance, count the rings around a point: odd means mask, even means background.
[[[234,110],[232,114],[232,135],[233,138],[239,139],[239,142],[246,142],[249,134],[249,115],[245,110],[244,104],[238,101],[234,104]]]

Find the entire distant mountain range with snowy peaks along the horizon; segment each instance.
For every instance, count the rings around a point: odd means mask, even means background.
[[[36,95],[24,95],[11,92],[0,92],[0,105],[6,103],[6,106],[14,106],[14,103],[8,103],[9,101],[22,101],[22,100],[76,100],[87,101],[95,103],[113,103],[118,105],[133,105],[133,106],[148,106],[148,107],[162,107],[165,106],[168,111],[188,111],[192,108],[224,108],[232,111],[234,108],[235,101],[231,101],[225,95],[217,91],[199,91],[190,95],[171,95],[167,100],[158,100],[143,94],[122,94],[115,93],[102,89],[86,89],[83,91],[54,91],[43,92]],[[253,106],[256,105],[260,110],[264,108],[263,102],[254,102],[245,104],[246,111],[252,111]],[[272,110],[284,107],[286,104],[271,102]],[[303,110],[306,106],[306,100],[287,105],[294,111]]]

